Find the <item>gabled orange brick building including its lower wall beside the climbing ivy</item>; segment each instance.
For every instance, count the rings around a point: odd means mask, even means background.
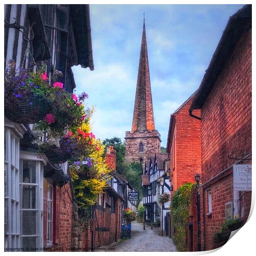
[[[194,95],[174,111],[170,118],[166,149],[170,157],[171,194],[185,183],[194,183],[196,173],[201,175],[201,122],[192,118],[188,112]],[[194,114],[200,116],[200,110],[194,111]],[[174,226],[171,225],[171,237],[173,235]],[[196,238],[197,207],[193,201],[187,226],[187,251],[196,251]]]

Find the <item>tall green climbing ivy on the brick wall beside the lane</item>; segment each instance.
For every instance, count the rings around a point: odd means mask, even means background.
[[[196,184],[185,183],[173,193],[171,198],[171,221],[175,226],[174,243],[178,251],[186,248],[186,227],[189,220],[191,192]]]

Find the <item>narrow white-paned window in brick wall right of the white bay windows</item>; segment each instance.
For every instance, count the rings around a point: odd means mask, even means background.
[[[52,223],[53,223],[53,186],[47,184],[47,230],[46,245],[52,244]]]

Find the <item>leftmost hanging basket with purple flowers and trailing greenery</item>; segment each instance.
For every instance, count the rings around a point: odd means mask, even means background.
[[[10,61],[5,70],[5,116],[15,123],[35,123],[49,113],[50,95],[56,92],[47,81],[44,67],[36,72]]]

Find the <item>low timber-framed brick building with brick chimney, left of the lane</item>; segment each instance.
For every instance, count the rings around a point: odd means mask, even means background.
[[[116,150],[113,146],[107,148],[105,159],[113,168],[114,175]],[[121,239],[122,212],[125,199],[114,190],[111,180],[109,187],[99,195],[97,203],[92,207],[90,225],[77,236],[77,244],[82,251],[93,251],[95,248],[118,242]]]

